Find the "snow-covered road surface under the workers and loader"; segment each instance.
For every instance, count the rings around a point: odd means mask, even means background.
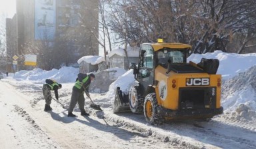
[[[68,107],[73,84],[63,84],[60,102]],[[54,100],[44,112],[42,84],[3,79],[0,83],[1,148],[256,148],[255,121],[225,114],[209,122],[185,120],[149,125],[143,114],[113,114],[105,94],[91,94],[103,112],[86,106],[89,117],[67,117]],[[111,100],[111,99],[109,99]],[[86,105],[89,105],[86,99]],[[104,122],[104,120],[107,124]]]

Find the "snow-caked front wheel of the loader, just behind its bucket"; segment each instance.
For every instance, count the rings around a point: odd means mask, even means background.
[[[138,93],[138,86],[131,86],[129,90],[129,105],[131,112],[140,113],[143,110],[143,99],[140,98]]]

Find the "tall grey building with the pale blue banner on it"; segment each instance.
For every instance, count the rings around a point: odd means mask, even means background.
[[[18,55],[19,65],[24,65],[24,55],[37,55],[38,66],[46,60],[43,56],[57,55],[59,63],[77,63],[81,55],[99,55],[98,1],[95,0],[17,0],[15,25],[16,49],[10,57]],[[10,23],[10,21],[9,21]],[[7,37],[7,42],[11,37]],[[67,53],[64,55],[64,53]],[[55,57],[54,57],[55,58]],[[10,58],[9,61],[12,61]],[[51,67],[55,61],[47,62]],[[59,65],[58,63],[58,65]],[[44,68],[42,68],[44,69]]]

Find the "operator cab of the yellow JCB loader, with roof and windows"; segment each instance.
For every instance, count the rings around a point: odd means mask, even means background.
[[[159,65],[168,69],[171,65],[187,63],[190,47],[179,47],[179,45],[144,43],[139,51],[138,67],[133,65],[133,75],[140,83],[141,97],[153,92],[149,86],[155,84],[155,68]]]

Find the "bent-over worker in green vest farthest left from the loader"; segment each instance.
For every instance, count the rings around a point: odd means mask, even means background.
[[[43,96],[45,97],[45,111],[52,110],[51,104],[51,90],[55,92],[56,100],[59,100],[58,90],[62,87],[61,84],[57,83],[55,80],[46,79],[46,84],[43,84]]]

